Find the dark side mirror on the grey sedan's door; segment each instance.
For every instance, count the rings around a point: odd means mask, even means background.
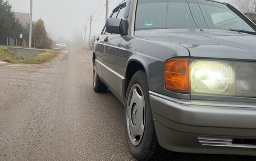
[[[127,35],[128,27],[129,24],[127,20],[109,18],[106,24],[106,31],[111,34]]]

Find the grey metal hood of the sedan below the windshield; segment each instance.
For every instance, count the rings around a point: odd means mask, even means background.
[[[256,60],[256,35],[200,29],[144,30],[135,35],[156,43],[180,44],[191,57]]]

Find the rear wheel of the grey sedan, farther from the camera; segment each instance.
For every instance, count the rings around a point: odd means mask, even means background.
[[[97,74],[97,70],[95,67],[95,63],[93,65],[93,90],[97,93],[104,93],[106,92],[108,87],[99,79]]]

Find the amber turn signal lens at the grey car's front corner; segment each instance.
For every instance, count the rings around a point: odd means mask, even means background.
[[[179,93],[190,93],[189,58],[173,58],[164,66],[165,87]]]

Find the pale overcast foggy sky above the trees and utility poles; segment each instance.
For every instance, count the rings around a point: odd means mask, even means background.
[[[30,0],[7,0],[16,12],[29,13]],[[109,11],[122,0],[109,0]],[[230,2],[231,0],[218,0]],[[101,2],[101,3],[100,3]],[[33,0],[33,21],[42,18],[52,39],[72,38],[72,33],[85,30],[89,37],[89,17],[93,15],[92,35],[99,34],[104,26],[106,0]],[[100,5],[99,5],[100,4]],[[109,12],[110,14],[110,12]],[[96,21],[95,21],[96,20]],[[87,38],[86,38],[87,39]]]

